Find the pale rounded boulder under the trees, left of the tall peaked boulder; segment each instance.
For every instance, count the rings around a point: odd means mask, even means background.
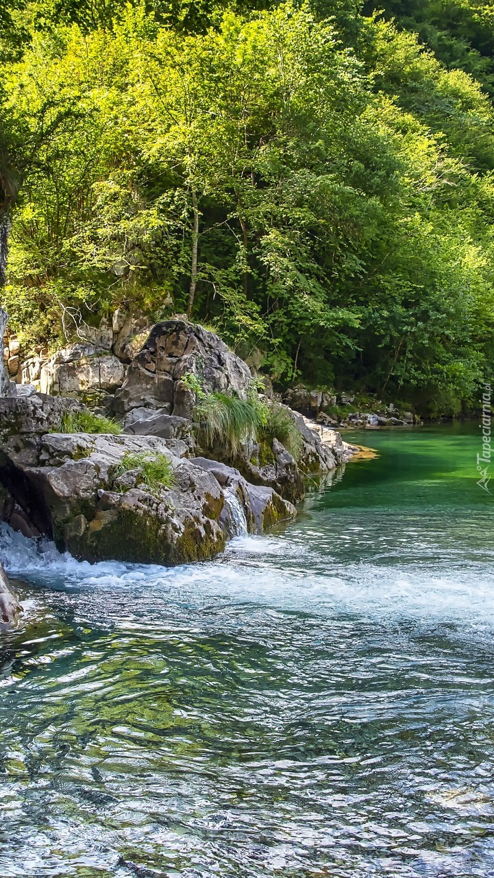
[[[125,366],[108,349],[77,342],[43,363],[39,385],[43,393],[80,398],[114,392],[124,378]]]

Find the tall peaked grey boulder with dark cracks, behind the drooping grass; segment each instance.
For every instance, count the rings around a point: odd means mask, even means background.
[[[241,399],[252,385],[246,363],[218,335],[186,320],[165,320],[153,327],[133,358],[112,411],[122,415],[151,407],[190,418],[196,394],[182,380],[188,375],[197,378],[204,392],[235,392]]]

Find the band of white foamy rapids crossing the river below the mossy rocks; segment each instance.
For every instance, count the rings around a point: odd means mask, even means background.
[[[65,590],[124,590],[191,606],[237,601],[317,615],[415,618],[494,626],[494,577],[487,563],[345,564],[286,537],[240,536],[218,561],[174,568],[79,562],[53,543],[34,543],[0,527],[0,560],[11,575]],[[300,562],[297,564],[297,562]],[[326,569],[325,569],[326,567]]]

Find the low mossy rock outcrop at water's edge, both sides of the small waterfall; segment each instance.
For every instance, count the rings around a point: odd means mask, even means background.
[[[248,530],[295,515],[276,492],[259,491],[240,474],[241,490],[232,479],[222,486],[209,465],[184,457],[188,448],[176,435],[47,432],[77,407],[40,394],[0,400],[4,520],[14,526],[15,519],[25,536],[49,536],[59,550],[89,561],[180,564],[212,558],[238,532],[226,509],[232,489]],[[147,486],[143,454],[168,459],[172,486]]]

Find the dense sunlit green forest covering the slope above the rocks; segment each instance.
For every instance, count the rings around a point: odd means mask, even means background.
[[[11,326],[187,313],[276,386],[468,411],[493,57],[491,0],[3,0]]]

